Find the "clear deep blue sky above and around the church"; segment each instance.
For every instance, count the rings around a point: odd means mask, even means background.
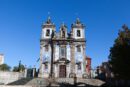
[[[86,26],[86,54],[95,68],[108,61],[122,25],[130,27],[130,0],[0,0],[0,53],[6,64],[13,67],[21,60],[39,67],[41,25],[48,16],[57,31],[63,22],[70,31],[80,18]]]

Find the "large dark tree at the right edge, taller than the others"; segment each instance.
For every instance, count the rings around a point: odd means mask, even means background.
[[[110,48],[109,63],[115,78],[130,78],[130,29],[126,25],[122,26],[113,47]]]

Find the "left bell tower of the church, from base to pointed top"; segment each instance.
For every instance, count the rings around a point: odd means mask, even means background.
[[[51,66],[51,35],[55,31],[55,25],[48,17],[42,25],[42,33],[40,39],[40,68],[39,77],[49,77]]]

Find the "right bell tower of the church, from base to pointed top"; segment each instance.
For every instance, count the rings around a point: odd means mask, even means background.
[[[77,77],[84,77],[86,74],[86,40],[85,40],[85,26],[81,23],[80,19],[77,18],[75,23],[71,25],[71,37],[74,39],[73,48],[74,54],[72,58],[75,64],[73,66]],[[72,65],[73,65],[72,64]]]

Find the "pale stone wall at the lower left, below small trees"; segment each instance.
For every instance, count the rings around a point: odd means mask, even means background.
[[[0,84],[8,84],[24,77],[24,72],[0,71]]]

